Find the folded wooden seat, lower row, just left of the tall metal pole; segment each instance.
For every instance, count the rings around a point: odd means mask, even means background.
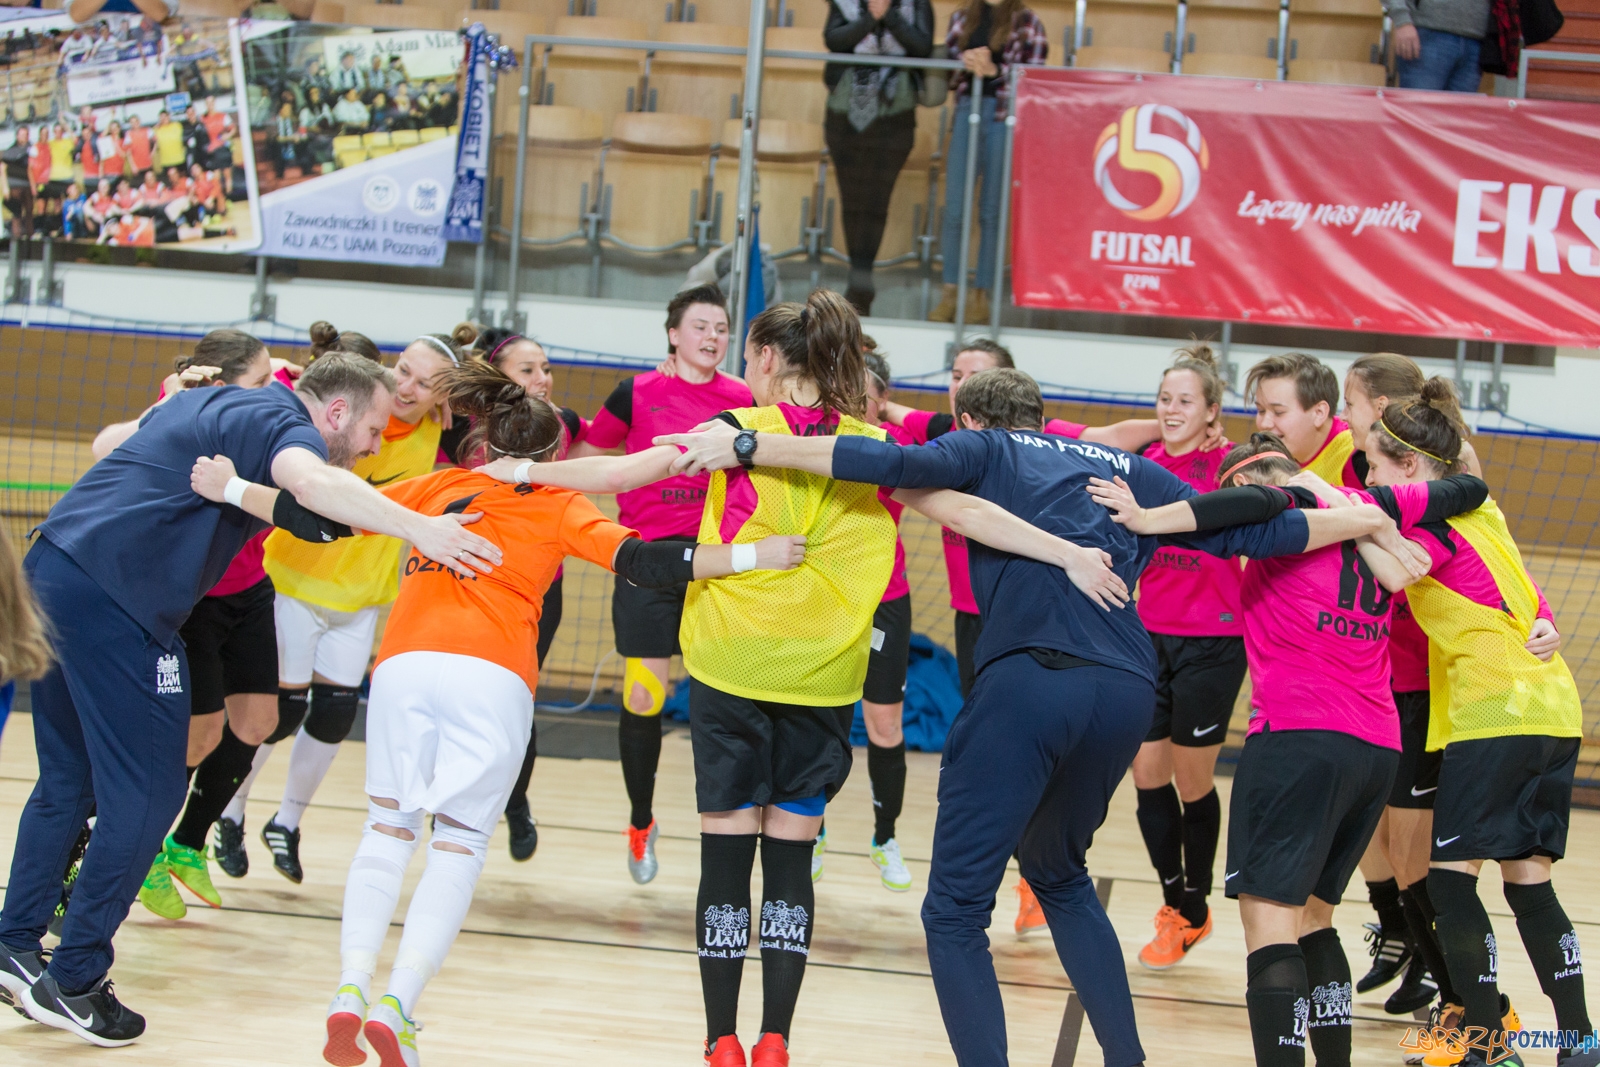
[[[690,237],[691,219],[706,205],[714,136],[715,125],[699,115],[616,115],[605,157],[606,232],[637,248]]]

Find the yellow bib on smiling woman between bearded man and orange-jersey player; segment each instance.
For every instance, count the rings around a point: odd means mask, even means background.
[[[424,416],[414,430],[384,442],[376,456],[357,461],[355,477],[381,490],[430,472],[438,458],[440,429]],[[262,563],[280,593],[330,611],[360,611],[386,605],[400,593],[400,542],[395,537],[374,534],[312,544],[274,530]]]

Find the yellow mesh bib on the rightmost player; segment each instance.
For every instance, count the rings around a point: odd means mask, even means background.
[[[1450,520],[1499,587],[1507,611],[1474,603],[1424,577],[1406,590],[1427,633],[1427,750],[1453,741],[1542,734],[1581,737],[1584,709],[1562,654],[1541,662],[1523,648],[1539,593],[1494,501]]]

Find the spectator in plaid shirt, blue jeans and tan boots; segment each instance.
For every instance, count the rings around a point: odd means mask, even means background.
[[[1011,91],[1006,78],[1018,64],[1042,67],[1050,54],[1050,37],[1045,24],[1022,0],[968,0],[965,8],[950,13],[950,32],[946,38],[950,59],[966,66],[950,82],[955,90],[957,115],[971,107],[973,75],[982,75],[982,102],[978,123],[978,178],[982,182],[978,202],[978,285],[966,294],[966,322],[989,318],[989,290],[995,283],[995,250],[1000,238],[1000,168],[1005,162],[1005,118],[1011,107]],[[944,173],[966,173],[968,152],[966,125],[958,123],[950,138],[949,165]],[[962,181],[944,184],[944,227],[939,235],[939,251],[944,256],[944,293],[939,306],[928,315],[930,322],[955,322],[957,282],[966,264],[962,253]]]

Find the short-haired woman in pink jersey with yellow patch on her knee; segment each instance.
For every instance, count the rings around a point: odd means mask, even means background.
[[[674,373],[648,371],[618,382],[574,456],[618,446],[634,454],[651,448],[659,434],[690,430],[720,411],[750,406],[749,386],[718,370],[728,354],[728,309],[715,285],[683,290],[667,304],[667,352],[675,357]],[[672,475],[619,493],[618,522],[645,541],[693,542],[709,483],[706,474]],[[618,749],[632,806],[627,872],[640,885],[659,869],[653,801],[661,763],[661,707],[667,702],[667,664],[682,651],[678,625],[686,595],[686,584],[638,589],[626,581],[616,582],[611,593],[611,625],[622,657]]]

